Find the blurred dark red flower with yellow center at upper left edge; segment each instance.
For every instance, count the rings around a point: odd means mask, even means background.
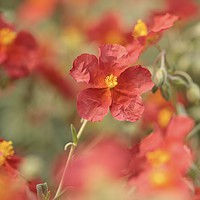
[[[11,79],[27,76],[39,62],[39,47],[26,31],[17,33],[0,16],[0,64]]]

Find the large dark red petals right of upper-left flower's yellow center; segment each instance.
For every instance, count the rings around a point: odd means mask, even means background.
[[[7,51],[3,66],[11,78],[29,75],[39,61],[39,47],[35,38],[26,31],[17,34]]]

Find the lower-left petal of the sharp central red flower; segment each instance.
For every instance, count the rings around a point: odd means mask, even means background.
[[[89,88],[78,95],[77,108],[80,116],[89,121],[101,121],[111,104],[111,94],[107,89]]]

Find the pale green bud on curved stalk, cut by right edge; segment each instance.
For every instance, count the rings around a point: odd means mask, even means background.
[[[186,92],[187,99],[191,103],[197,103],[200,100],[200,89],[196,83],[189,86]]]

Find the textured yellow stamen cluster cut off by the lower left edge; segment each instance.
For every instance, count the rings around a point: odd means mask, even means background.
[[[11,141],[0,142],[0,166],[2,166],[6,159],[14,155],[14,149]]]

